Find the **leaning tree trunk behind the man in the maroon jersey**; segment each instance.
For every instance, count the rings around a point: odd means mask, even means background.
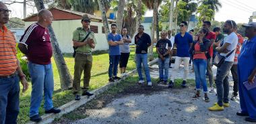
[[[38,11],[40,11],[40,9],[45,8],[42,0],[34,0],[34,3],[36,5],[36,8]],[[56,66],[57,66],[57,69],[59,72],[59,78],[61,81],[61,89],[67,90],[68,88],[71,88],[73,79],[69,73],[69,68],[67,68],[67,64],[65,63],[65,60],[61,53],[61,50],[59,49],[59,44],[57,42],[55,33],[53,32],[53,27],[51,25],[49,25],[48,29],[49,29],[50,36],[51,36],[51,45],[53,48],[53,58],[55,60],[55,63],[56,63]]]

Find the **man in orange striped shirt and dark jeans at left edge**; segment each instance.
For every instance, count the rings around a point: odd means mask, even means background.
[[[23,92],[28,89],[26,76],[17,59],[15,37],[5,27],[10,10],[0,1],[0,123],[17,123],[21,80]],[[20,76],[20,79],[19,79]]]

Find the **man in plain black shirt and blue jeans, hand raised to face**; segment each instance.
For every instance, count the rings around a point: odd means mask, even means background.
[[[143,84],[143,76],[141,72],[141,63],[143,64],[144,72],[148,82],[148,86],[152,86],[150,78],[150,70],[148,69],[148,47],[151,46],[150,36],[144,33],[144,26],[139,25],[138,34],[135,36],[136,44],[136,66],[137,72],[139,74],[139,84]]]

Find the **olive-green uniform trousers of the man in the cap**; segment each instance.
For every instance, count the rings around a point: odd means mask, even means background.
[[[83,92],[86,92],[89,88],[89,82],[91,78],[92,70],[92,55],[75,54],[75,71],[73,80],[73,93],[77,94],[80,88],[81,75],[84,70],[84,87]]]

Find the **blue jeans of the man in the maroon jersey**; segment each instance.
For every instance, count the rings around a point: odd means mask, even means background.
[[[52,64],[34,64],[28,62],[28,70],[31,76],[32,92],[30,103],[30,117],[38,115],[38,109],[44,92],[44,110],[53,108],[53,66]]]

